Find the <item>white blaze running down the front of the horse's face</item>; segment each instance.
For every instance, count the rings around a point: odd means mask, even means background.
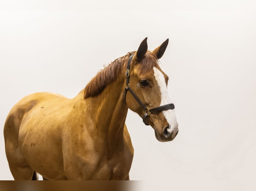
[[[171,103],[170,97],[168,95],[168,90],[166,87],[164,76],[156,67],[154,67],[154,76],[155,76],[155,79],[158,83],[158,86],[159,86],[160,92],[161,92],[160,106]],[[167,122],[169,123],[168,131],[176,130],[178,128],[178,124],[176,121],[174,109],[168,109],[168,110],[165,110],[162,112],[163,112],[163,115],[166,118]]]

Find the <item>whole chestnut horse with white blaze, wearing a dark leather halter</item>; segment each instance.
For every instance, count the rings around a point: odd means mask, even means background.
[[[145,38],[104,69],[74,98],[53,93],[23,97],[4,125],[6,157],[15,180],[129,180],[133,145],[128,109],[158,141],[178,133],[168,76],[160,69],[168,39],[149,51]]]

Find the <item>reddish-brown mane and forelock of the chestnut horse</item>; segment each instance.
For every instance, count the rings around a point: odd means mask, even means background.
[[[114,82],[122,71],[123,65],[127,66],[129,57],[135,52],[128,52],[125,56],[120,57],[109,65],[104,66],[104,69],[87,84],[84,91],[84,97],[95,97],[99,95],[110,83]],[[145,57],[140,61],[139,72],[147,73],[153,69],[157,63],[157,57],[148,51]]]

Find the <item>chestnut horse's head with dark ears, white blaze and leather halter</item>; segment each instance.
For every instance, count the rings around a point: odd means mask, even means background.
[[[138,113],[145,124],[153,127],[156,139],[162,142],[173,140],[178,133],[174,105],[167,91],[168,76],[157,63],[167,45],[168,39],[150,52],[145,38],[130,57],[125,73],[127,106]]]

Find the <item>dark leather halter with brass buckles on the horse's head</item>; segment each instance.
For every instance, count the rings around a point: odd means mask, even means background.
[[[161,105],[159,107],[155,107],[152,109],[149,109],[148,107],[146,107],[146,105],[144,103],[142,103],[142,101],[138,98],[138,96],[132,91],[130,85],[129,85],[129,81],[130,81],[130,66],[131,66],[131,60],[133,58],[134,54],[132,54],[128,60],[128,64],[127,64],[127,70],[125,71],[125,76],[126,76],[126,86],[124,89],[124,102],[126,104],[126,94],[127,91],[129,91],[131,93],[131,95],[135,98],[135,100],[140,104],[140,106],[145,110],[145,114],[143,115],[142,119],[143,122],[145,123],[145,125],[149,125],[146,120],[147,117],[152,113],[152,114],[157,114],[160,113],[161,111],[164,110],[168,110],[168,109],[174,109],[174,104],[173,103],[169,103],[166,105]]]

